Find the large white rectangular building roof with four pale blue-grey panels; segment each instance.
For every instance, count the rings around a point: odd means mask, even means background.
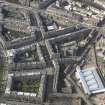
[[[90,95],[92,93],[105,91],[104,85],[95,67],[87,68],[84,70],[77,70],[77,72],[86,94]]]

